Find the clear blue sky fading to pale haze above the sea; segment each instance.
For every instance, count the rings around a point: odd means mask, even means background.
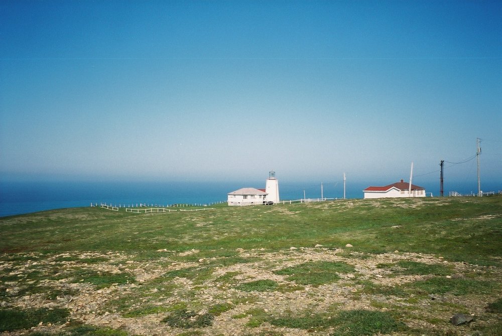
[[[500,1],[0,2],[4,179],[502,188]],[[473,158],[473,159],[472,159]],[[429,174],[430,173],[430,174]]]

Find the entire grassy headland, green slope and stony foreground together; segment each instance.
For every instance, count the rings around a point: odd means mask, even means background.
[[[0,227],[5,335],[502,334],[501,196],[89,207]]]

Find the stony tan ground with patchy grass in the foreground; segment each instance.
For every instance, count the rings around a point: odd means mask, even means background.
[[[40,321],[31,329],[2,334],[56,334],[81,323],[131,335],[327,335],[336,332],[336,325],[294,327],[277,320],[329,319],[345,310],[390,313],[404,324],[391,334],[438,330],[476,334],[476,327],[500,319],[487,310],[487,304],[502,293],[502,272],[494,266],[452,262],[437,255],[399,251],[374,255],[354,249],[237,249],[226,255],[215,251],[214,256],[198,250],[159,250],[150,259],[115,251],[4,256],[2,309],[67,308],[70,315],[66,323]],[[280,272],[319,262],[348,266],[321,283]],[[433,266],[435,271],[410,271],[403,262],[425,269]],[[311,277],[316,278],[314,269]],[[424,281],[430,279],[452,285],[446,289],[414,285],[428,284]],[[491,285],[483,289],[487,283]],[[179,317],[181,312],[185,319]],[[179,323],[166,320],[176,313]],[[454,326],[450,318],[456,313],[469,314],[473,320]],[[209,322],[197,324],[199,317]]]

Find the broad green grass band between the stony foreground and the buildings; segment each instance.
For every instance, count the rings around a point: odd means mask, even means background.
[[[458,261],[500,265],[501,203],[500,196],[345,200],[325,203],[322,209],[315,204],[273,209],[222,206],[207,212],[158,215],[75,208],[0,218],[0,251],[108,251],[110,247],[143,252],[234,251],[351,243],[369,253],[437,253]],[[485,215],[493,217],[479,219]],[[213,225],[197,226],[208,222]]]

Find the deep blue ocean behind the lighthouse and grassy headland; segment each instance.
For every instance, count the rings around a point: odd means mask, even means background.
[[[370,184],[347,182],[346,198],[363,198],[362,190]],[[436,183],[421,184],[427,192],[439,196]],[[265,188],[265,180],[251,182],[2,182],[0,181],[0,217],[32,212],[88,207],[91,203],[114,206],[142,204],[169,206],[173,204],[211,205],[226,202],[234,190],[253,187]],[[456,186],[462,194],[475,193],[472,186]],[[343,181],[335,183],[281,182],[281,200],[343,198]],[[322,193],[322,194],[321,194]],[[445,191],[445,196],[448,192]]]

